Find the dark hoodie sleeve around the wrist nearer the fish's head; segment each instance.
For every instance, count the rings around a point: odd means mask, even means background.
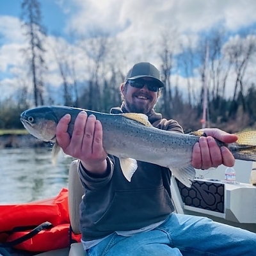
[[[107,172],[105,177],[96,177],[92,175],[92,173],[89,173],[84,166],[79,162],[79,167],[78,167],[78,173],[79,177],[81,179],[81,182],[84,186],[85,189],[89,189],[92,191],[95,191],[97,189],[100,189],[108,182],[111,180],[113,176],[113,170],[114,170],[114,163],[112,160],[113,157],[108,156],[107,157]],[[114,158],[113,158],[114,159]]]

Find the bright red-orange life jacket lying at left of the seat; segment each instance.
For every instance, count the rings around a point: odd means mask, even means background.
[[[46,252],[67,248],[70,246],[71,239],[80,241],[81,236],[71,236],[68,215],[68,189],[63,188],[59,195],[53,198],[27,204],[0,205],[0,243],[8,244],[26,236],[33,227],[45,221],[52,224],[49,229],[40,231],[35,236],[14,247],[30,252]],[[17,231],[17,227],[19,227],[18,229],[21,227],[23,230]]]

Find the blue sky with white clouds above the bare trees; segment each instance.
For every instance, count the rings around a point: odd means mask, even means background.
[[[0,0],[0,99],[10,96],[19,88],[20,81],[26,80],[20,52],[24,47],[19,22],[21,3],[22,0]],[[90,35],[93,29],[100,29],[122,38],[127,45],[136,45],[139,40],[154,38],[161,29],[171,26],[195,37],[218,26],[230,34],[256,29],[255,0],[40,0],[40,3],[49,41],[58,36],[66,44],[70,31],[74,30]],[[135,48],[134,52],[144,50],[141,45]],[[157,65],[153,57],[149,60],[146,57],[145,61]],[[57,65],[50,55],[47,60],[48,81],[58,86],[61,79]],[[131,61],[136,60],[131,58]],[[21,76],[23,80],[17,79]]]

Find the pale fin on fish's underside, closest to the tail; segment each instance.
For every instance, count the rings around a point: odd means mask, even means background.
[[[170,168],[172,174],[182,182],[186,187],[190,188],[192,184],[192,180],[195,179],[196,171],[193,166],[183,166]]]

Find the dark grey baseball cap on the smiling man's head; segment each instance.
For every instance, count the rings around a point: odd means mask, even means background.
[[[159,87],[164,87],[164,84],[160,81],[160,72],[152,64],[148,62],[136,63],[127,73],[125,81],[128,79],[136,79],[140,77],[151,77],[154,79]]]

